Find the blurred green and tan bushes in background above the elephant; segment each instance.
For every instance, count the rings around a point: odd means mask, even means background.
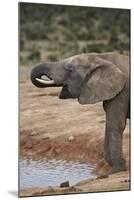
[[[58,60],[82,52],[129,53],[130,10],[20,3],[21,53]],[[33,42],[37,52],[28,46]],[[41,52],[41,53],[40,53]],[[36,58],[36,59],[35,59]]]

